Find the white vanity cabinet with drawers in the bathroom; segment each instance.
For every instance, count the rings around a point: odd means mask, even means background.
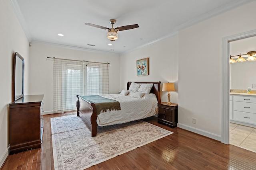
[[[256,96],[233,95],[232,100],[230,122],[256,127]]]

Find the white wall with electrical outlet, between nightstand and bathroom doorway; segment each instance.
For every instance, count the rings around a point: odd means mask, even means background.
[[[221,140],[222,38],[255,29],[255,8],[254,1],[179,31],[178,127]]]

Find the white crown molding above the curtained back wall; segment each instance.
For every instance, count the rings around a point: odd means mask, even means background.
[[[81,51],[88,51],[88,52],[92,52],[92,53],[104,53],[104,54],[113,54],[114,52],[107,52],[107,51],[100,51],[100,50],[92,50],[92,49],[86,49],[86,48],[82,48],[82,47],[75,47],[75,46],[70,46],[70,45],[62,45],[62,44],[57,44],[57,43],[49,43],[49,42],[44,42],[44,41],[36,41],[36,40],[32,40],[32,47],[33,47],[33,43],[40,43],[40,44],[46,44],[46,45],[54,45],[57,47],[63,47],[66,49],[75,49],[75,50],[81,50]],[[118,54],[119,53],[114,53],[114,54]]]

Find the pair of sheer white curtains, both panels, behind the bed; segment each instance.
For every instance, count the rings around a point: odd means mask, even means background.
[[[76,109],[76,95],[109,94],[107,63],[54,59],[53,74],[54,112]]]

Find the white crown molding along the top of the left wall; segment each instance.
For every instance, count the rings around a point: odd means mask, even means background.
[[[20,11],[20,6],[17,2],[17,0],[10,0],[11,6],[13,8],[14,13],[16,14],[16,17],[18,18],[18,21],[20,22],[20,25],[28,39],[28,41],[32,41],[31,35],[28,31],[28,27],[26,25],[25,19],[23,14]]]

